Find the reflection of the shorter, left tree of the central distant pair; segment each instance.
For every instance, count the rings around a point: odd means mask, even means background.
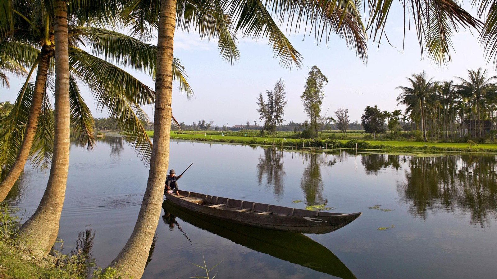
[[[259,185],[262,183],[263,176],[266,175],[267,187],[272,186],[276,196],[283,194],[285,170],[281,152],[276,152],[276,149],[272,147],[264,148],[264,155],[259,156],[257,170]]]

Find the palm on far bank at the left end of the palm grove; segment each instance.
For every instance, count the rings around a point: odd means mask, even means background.
[[[411,87],[398,86],[397,89],[402,91],[397,97],[397,101],[400,104],[406,105],[406,114],[415,108],[419,108],[421,116],[421,130],[423,132],[424,141],[426,139],[426,128],[425,128],[425,100],[433,93],[433,77],[426,80],[426,73],[423,71],[419,74],[413,74],[413,78],[408,78]]]

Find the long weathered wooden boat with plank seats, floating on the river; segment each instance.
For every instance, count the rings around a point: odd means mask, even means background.
[[[199,214],[263,229],[323,234],[337,230],[355,220],[361,212],[333,213],[293,209],[193,192],[166,192],[173,204]]]

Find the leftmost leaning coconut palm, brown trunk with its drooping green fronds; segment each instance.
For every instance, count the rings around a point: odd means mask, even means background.
[[[31,17],[34,17],[36,12],[36,9],[33,10],[30,5],[23,5],[22,3],[14,5],[13,8],[20,10],[24,14],[31,15]],[[28,94],[26,94],[24,88],[21,89],[20,98],[16,101],[18,107],[9,116],[10,125],[7,127],[8,129],[4,129],[0,134],[0,138],[4,142],[4,145],[0,148],[3,151],[0,152],[0,162],[3,166],[2,169],[9,170],[6,178],[0,183],[0,200],[5,198],[17,180],[24,168],[30,149],[31,154],[36,154],[32,158],[34,159],[33,164],[35,166],[41,165],[43,169],[43,167],[46,167],[50,163],[51,158],[51,144],[47,144],[51,140],[45,140],[43,144],[40,144],[38,141],[36,145],[38,148],[31,148],[31,146],[33,139],[53,138],[51,137],[53,133],[49,133],[53,129],[40,127],[42,124],[50,123],[47,123],[47,119],[38,121],[38,114],[41,112],[43,115],[49,115],[45,110],[40,111],[40,108],[42,97],[48,98],[45,86],[48,66],[45,64],[53,57],[53,50],[51,48],[54,43],[50,38],[41,40],[39,36],[43,34],[41,32],[43,26],[37,25],[34,20],[25,18],[20,17],[19,19],[14,16],[14,19],[18,19],[16,24],[14,24],[15,32],[5,36],[10,41],[2,44],[0,48],[6,53],[19,58],[19,60],[24,60],[24,64],[32,63],[33,68],[38,63],[37,80],[35,82],[37,93],[29,96],[39,98],[28,98]],[[43,20],[39,22],[39,24],[42,23]],[[72,80],[70,83],[70,98],[71,123],[75,127],[74,134],[80,136],[80,140],[85,142],[89,148],[92,147],[93,118],[80,95],[78,86],[78,81],[83,81],[92,90],[97,104],[101,108],[106,108],[111,116],[116,118],[119,128],[124,132],[125,137],[134,142],[135,148],[142,155],[143,159],[148,161],[152,147],[141,124],[141,121],[148,121],[148,118],[140,106],[153,102],[154,92],[148,86],[108,61],[115,64],[121,63],[132,66],[137,70],[152,73],[155,70],[157,49],[130,36],[102,28],[87,27],[82,22],[78,25],[69,25],[69,28],[72,37],[70,41],[70,78]],[[27,43],[29,41],[48,41],[50,44],[48,46],[47,44],[43,45],[40,52],[33,45],[17,41],[24,38],[28,38]],[[104,55],[107,61],[80,49],[80,41],[84,42],[87,46],[93,47],[95,53]],[[39,53],[38,57],[43,59],[33,60],[37,52]],[[26,58],[26,53],[31,56],[31,59]],[[48,55],[44,55],[44,53],[48,53]],[[43,63],[40,63],[40,61]],[[40,68],[42,65],[44,67]],[[173,68],[173,77],[180,81],[180,88],[187,93],[191,93],[191,89],[184,79],[182,66],[178,60],[173,61]],[[43,103],[49,104],[48,100],[43,100]],[[26,108],[29,109],[29,107],[31,107],[29,116],[22,115],[23,111]],[[49,106],[43,106],[43,108],[50,110]],[[27,125],[24,126],[23,123],[26,122]],[[37,123],[38,129],[36,129]],[[19,127],[25,131],[17,131],[16,129]],[[35,131],[37,131],[38,136],[34,135]],[[19,142],[22,142],[20,146],[18,146]],[[10,144],[5,145],[5,143]]]

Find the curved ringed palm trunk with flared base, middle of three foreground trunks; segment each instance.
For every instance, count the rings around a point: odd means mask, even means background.
[[[55,35],[55,134],[47,189],[35,213],[20,228],[38,255],[50,252],[59,232],[69,168],[69,34],[66,1],[54,2]]]

